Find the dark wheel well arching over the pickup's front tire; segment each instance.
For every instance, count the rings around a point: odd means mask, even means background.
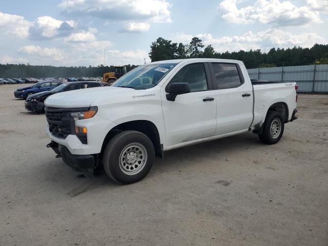
[[[162,149],[160,146],[160,138],[159,133],[156,126],[153,122],[148,120],[133,120],[124,122],[122,124],[117,125],[113,129],[111,129],[103,142],[103,146],[101,147],[101,154],[104,153],[104,150],[108,144],[108,142],[118,133],[122,131],[133,130],[144,133],[146,136],[150,138],[153,143],[156,156],[162,157]]]

